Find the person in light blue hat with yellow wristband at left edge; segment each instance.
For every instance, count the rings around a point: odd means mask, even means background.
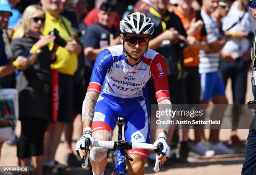
[[[8,62],[2,34],[3,30],[6,30],[8,27],[8,20],[11,15],[12,13],[9,1],[0,0],[0,89],[10,87],[10,76],[7,76],[8,74],[12,73],[16,69],[24,70],[28,65],[28,60],[22,56],[17,57],[13,64],[9,64]],[[0,155],[2,145],[3,142],[0,142]]]

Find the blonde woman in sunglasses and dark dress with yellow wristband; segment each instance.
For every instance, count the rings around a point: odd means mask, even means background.
[[[13,55],[28,58],[29,66],[18,76],[19,120],[21,134],[17,145],[20,166],[28,166],[31,157],[33,173],[42,174],[43,141],[51,116],[51,62],[55,58],[56,45],[47,45],[55,36],[41,35],[45,13],[40,5],[30,5],[23,13],[20,30],[11,43]]]

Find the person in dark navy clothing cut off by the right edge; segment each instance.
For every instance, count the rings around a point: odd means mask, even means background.
[[[251,11],[251,15],[254,20],[256,20],[256,0],[248,0],[249,10]],[[256,43],[256,30],[254,31],[254,37],[253,37],[253,51],[251,52],[251,59],[252,59],[252,77],[251,77],[251,83],[252,83],[252,92],[254,96],[254,100],[248,102],[248,104],[253,105],[252,107],[256,109],[256,54],[255,54],[255,43]],[[255,113],[255,112],[254,112]],[[243,163],[242,168],[242,175],[256,175],[256,115],[253,118],[253,121],[251,122],[249,135],[248,135],[248,143],[246,145],[246,153],[245,153],[245,159]]]

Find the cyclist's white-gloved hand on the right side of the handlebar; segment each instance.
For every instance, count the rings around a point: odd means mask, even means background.
[[[163,165],[165,163],[165,161],[167,160],[167,156],[169,155],[170,153],[170,148],[169,146],[167,145],[166,143],[166,135],[165,133],[159,133],[155,143],[154,143],[154,148],[157,149],[157,144],[161,142],[163,143],[163,148],[162,148],[162,151],[161,151],[161,155],[159,155],[158,157],[158,160],[159,162],[161,162],[161,164]]]

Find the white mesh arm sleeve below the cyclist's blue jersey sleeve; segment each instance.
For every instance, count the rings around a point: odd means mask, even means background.
[[[82,106],[82,121],[85,119],[93,120],[95,106],[100,94],[88,91],[85,95],[83,106]]]

